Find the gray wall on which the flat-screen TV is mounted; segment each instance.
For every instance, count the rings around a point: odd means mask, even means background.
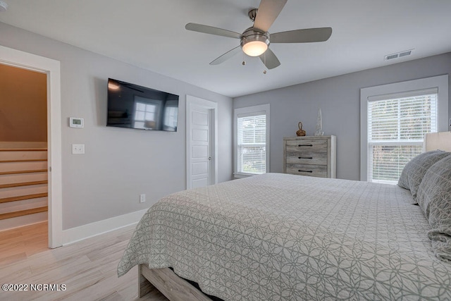
[[[185,189],[186,94],[218,103],[218,180],[232,175],[230,97],[0,23],[0,44],[61,61],[63,229],[150,207]],[[106,127],[107,79],[180,95],[178,132]],[[69,128],[69,117],[85,128]],[[71,154],[84,143],[85,155]],[[140,204],[145,193],[147,202]]]

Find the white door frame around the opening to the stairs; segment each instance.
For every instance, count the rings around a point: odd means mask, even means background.
[[[47,74],[49,247],[63,245],[60,61],[0,45],[0,63]]]

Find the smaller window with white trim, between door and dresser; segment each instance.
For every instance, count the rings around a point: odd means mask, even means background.
[[[235,109],[235,176],[269,171],[269,104]]]

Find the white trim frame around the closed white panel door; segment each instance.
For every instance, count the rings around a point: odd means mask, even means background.
[[[191,123],[193,106],[202,106],[209,109],[211,114],[210,122],[210,154],[211,154],[211,182],[218,183],[218,103],[202,99],[192,95],[186,95],[186,189],[191,186]]]

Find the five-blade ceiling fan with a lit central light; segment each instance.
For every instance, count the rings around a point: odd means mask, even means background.
[[[187,23],[185,29],[196,32],[204,32],[210,35],[221,35],[223,37],[233,37],[240,39],[240,45],[227,51],[222,56],[212,61],[210,65],[218,65],[230,59],[242,50],[248,56],[259,56],[266,68],[273,69],[280,65],[276,54],[268,48],[271,43],[308,43],[324,42],[332,35],[331,27],[307,28],[301,30],[289,30],[276,32],[269,35],[268,29],[274,20],[279,16],[287,0],[261,0],[259,8],[251,9],[249,18],[254,22],[254,26],[247,28],[241,34],[218,27],[202,25],[197,23]]]

